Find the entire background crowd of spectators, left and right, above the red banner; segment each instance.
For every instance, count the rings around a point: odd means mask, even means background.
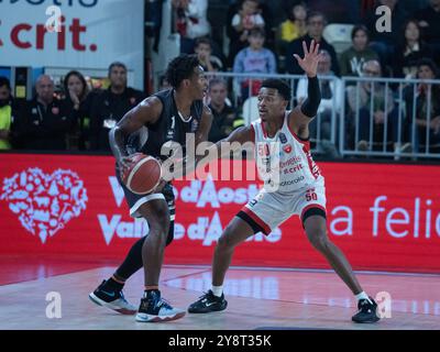
[[[374,80],[358,84],[354,79],[346,80],[343,90],[340,78],[438,79],[440,0],[418,1],[418,6],[407,0],[360,1],[359,16],[353,13],[348,16],[355,20],[348,21],[353,26],[351,45],[344,51],[337,51],[326,41],[324,30],[332,13],[317,11],[319,2],[290,0],[275,4],[265,0],[230,0],[222,24],[229,41],[224,46],[212,35],[207,0],[172,0],[180,52],[195,53],[210,79],[206,102],[211,107],[215,122],[209,140],[216,142],[244,123],[240,108],[246,98],[257,94],[261,85],[256,78],[240,78],[235,80],[238,85],[232,85],[231,80],[209,73],[232,72],[250,77],[302,75],[293,55],[302,52],[302,42],[309,45],[315,40],[322,53],[318,68],[322,101],[319,119],[311,124],[312,139],[330,141],[334,124],[344,119],[346,144],[351,148],[420,152],[429,144],[429,152],[438,151],[439,85],[406,85],[398,95],[402,85]],[[352,4],[334,0],[336,11],[344,6],[353,12]],[[391,32],[378,32],[375,28],[378,6],[392,10]],[[73,70],[64,77],[61,98],[55,95],[53,79],[42,75],[36,79],[34,99],[20,106],[12,99],[8,79],[0,77],[0,148],[109,152],[108,131],[146,96],[128,87],[127,75],[125,65],[116,62],[109,67],[109,88],[96,90],[81,73]],[[306,80],[298,79],[293,87],[295,102],[300,103],[306,97]],[[168,82],[161,77],[158,89],[167,88]],[[403,105],[397,101],[398,96]],[[338,156],[337,145],[320,146],[330,157]]]

